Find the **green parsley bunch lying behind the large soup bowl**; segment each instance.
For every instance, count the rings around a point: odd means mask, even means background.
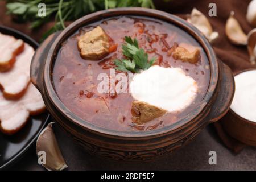
[[[39,17],[39,3],[45,3],[46,16]],[[18,0],[7,1],[7,13],[19,21],[31,22],[30,28],[39,28],[55,17],[55,25],[43,37],[65,28],[65,21],[76,20],[94,11],[115,7],[155,8],[153,0]]]

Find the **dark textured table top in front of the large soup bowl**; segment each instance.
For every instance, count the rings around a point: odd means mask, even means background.
[[[221,143],[213,126],[208,126],[187,146],[153,162],[120,163],[87,154],[73,143],[57,125],[56,138],[68,164],[68,170],[256,170],[256,148],[246,147],[233,154]],[[217,164],[208,163],[209,151],[217,152]],[[35,145],[9,169],[44,170],[37,163]]]

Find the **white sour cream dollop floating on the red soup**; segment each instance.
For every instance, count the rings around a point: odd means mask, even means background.
[[[135,100],[144,101],[169,112],[185,109],[196,97],[197,82],[181,68],[152,66],[135,74],[130,93]]]

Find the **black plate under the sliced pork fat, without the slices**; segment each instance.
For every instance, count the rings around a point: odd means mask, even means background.
[[[0,32],[2,34],[12,35],[17,39],[22,39],[34,49],[39,46],[35,40],[12,28],[0,26]],[[27,125],[12,136],[0,133],[0,169],[6,168],[14,163],[31,147],[38,138],[40,131],[46,126],[48,118],[48,113],[30,117]]]

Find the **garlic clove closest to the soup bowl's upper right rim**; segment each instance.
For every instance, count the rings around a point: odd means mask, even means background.
[[[207,37],[209,42],[218,38],[218,32],[213,32],[213,28],[207,17],[196,8],[192,10],[190,18],[187,21],[199,29]]]

